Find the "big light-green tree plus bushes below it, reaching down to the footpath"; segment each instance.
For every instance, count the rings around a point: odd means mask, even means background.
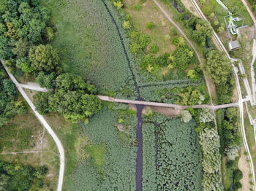
[[[225,57],[224,52],[218,50],[208,52],[205,69],[217,86],[219,104],[229,103],[230,97],[233,95],[235,81],[230,61]]]

